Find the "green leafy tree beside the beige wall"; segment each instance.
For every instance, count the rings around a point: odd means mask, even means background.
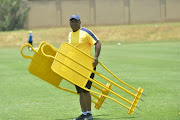
[[[0,31],[23,28],[28,11],[26,0],[0,0]]]

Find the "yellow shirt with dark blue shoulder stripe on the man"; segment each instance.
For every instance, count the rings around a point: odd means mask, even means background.
[[[84,51],[88,55],[92,55],[91,46],[99,40],[92,31],[83,27],[76,32],[71,31],[68,39],[70,44]]]

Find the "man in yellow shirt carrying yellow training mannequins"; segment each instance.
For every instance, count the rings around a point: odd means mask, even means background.
[[[101,51],[101,43],[99,39],[90,30],[81,27],[80,17],[78,15],[72,15],[70,17],[70,26],[72,31],[69,33],[69,43],[84,51],[85,53],[91,54],[91,46],[95,45],[95,55],[92,65],[94,70],[98,64],[98,57]],[[94,78],[94,73],[91,74],[90,78]],[[91,81],[88,81],[86,88],[90,89],[92,85]],[[92,120],[93,116],[91,113],[91,94],[76,86],[77,93],[80,94],[80,105],[82,115],[73,120]]]

